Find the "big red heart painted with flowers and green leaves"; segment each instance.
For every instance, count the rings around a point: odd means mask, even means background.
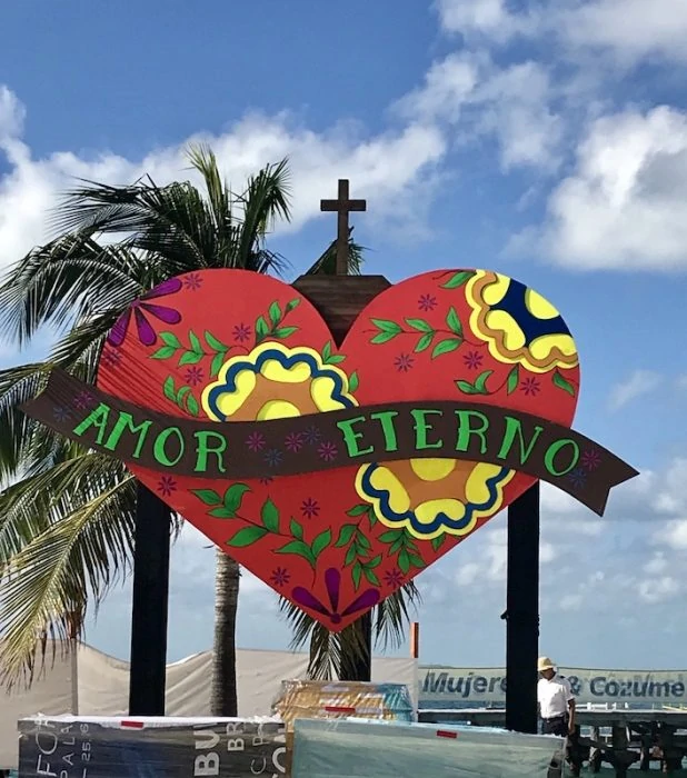
[[[376,297],[337,348],[292,287],[205,270],[145,295],[112,328],[98,386],[165,413],[268,420],[409,400],[479,400],[569,426],[572,338],[534,290],[484,270],[442,270]],[[242,445],[265,477],[177,477],[131,465],[176,511],[280,595],[338,631],[444,556],[536,479],[454,459],[278,476],[306,449],[332,465],[340,440],[299,433]],[[389,430],[392,433],[392,429]],[[275,473],[272,477],[270,473]]]

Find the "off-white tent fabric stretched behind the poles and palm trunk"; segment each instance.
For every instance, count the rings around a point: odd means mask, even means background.
[[[305,678],[306,654],[237,649],[239,716],[269,715],[282,680]],[[211,652],[167,666],[167,716],[210,715]],[[372,680],[406,684],[417,705],[417,660],[372,659]],[[0,704],[0,768],[17,765],[17,721],[37,714],[126,716],[129,664],[86,645],[67,657],[49,655],[30,689],[3,694]]]

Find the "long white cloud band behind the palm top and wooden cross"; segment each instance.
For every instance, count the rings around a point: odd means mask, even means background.
[[[409,122],[397,131],[365,137],[350,124],[313,132],[297,124],[288,113],[273,117],[249,114],[223,134],[198,133],[178,146],[158,149],[143,159],[128,160],[110,152],[96,159],[56,152],[33,159],[21,140],[23,108],[7,88],[0,89],[0,151],[10,170],[0,178],[0,267],[19,259],[48,239],[46,216],[74,178],[104,183],[130,183],[150,173],[163,184],[187,178],[183,148],[208,142],[219,164],[236,187],[243,184],[267,162],[289,157],[292,173],[292,222],[282,231],[297,230],[319,218],[319,201],[342,171],[356,190],[375,203],[370,220],[392,220],[396,226],[417,226],[424,216],[417,197],[431,187],[437,163],[446,151],[442,133],[434,126]]]

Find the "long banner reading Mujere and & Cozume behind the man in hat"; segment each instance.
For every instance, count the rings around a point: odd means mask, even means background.
[[[687,670],[559,668],[579,705],[687,705]],[[420,667],[419,707],[499,707],[506,704],[504,668]]]

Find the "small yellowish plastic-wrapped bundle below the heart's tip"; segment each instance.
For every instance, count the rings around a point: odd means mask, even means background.
[[[282,681],[273,712],[292,731],[299,718],[365,718],[414,721],[415,710],[404,684],[362,681]]]

